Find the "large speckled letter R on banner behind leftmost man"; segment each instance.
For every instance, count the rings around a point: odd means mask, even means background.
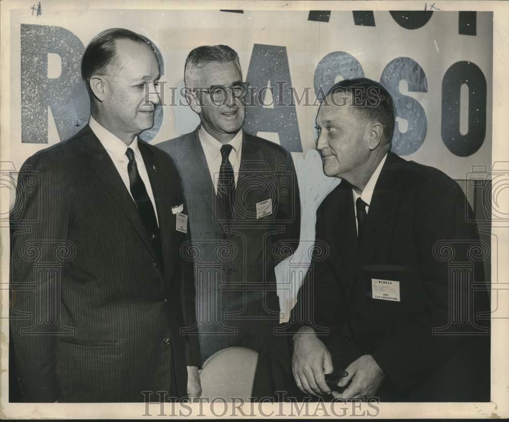
[[[84,47],[60,26],[21,24],[21,142],[48,143],[48,106],[60,139],[86,125],[90,102],[80,64]],[[48,53],[58,54],[62,73],[48,78]]]

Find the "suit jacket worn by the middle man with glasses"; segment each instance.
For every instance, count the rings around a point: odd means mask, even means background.
[[[244,133],[235,217],[231,224],[221,221],[198,130],[157,146],[172,156],[182,177],[206,359],[230,346],[259,350],[266,331],[278,324],[274,266],[298,245],[300,200],[290,153]],[[257,204],[267,199],[271,213],[257,216]]]

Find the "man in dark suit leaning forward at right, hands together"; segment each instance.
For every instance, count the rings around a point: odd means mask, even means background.
[[[378,82],[335,84],[316,122],[323,170],[342,178],[317,212],[328,256],[299,291],[291,341],[260,358],[254,395],[489,401],[487,245],[460,186],[390,152],[393,102]]]

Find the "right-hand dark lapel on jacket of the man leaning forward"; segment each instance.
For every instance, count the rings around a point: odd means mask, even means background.
[[[398,210],[397,157],[388,153],[375,185],[360,248],[360,264],[370,263],[376,250],[386,250]]]

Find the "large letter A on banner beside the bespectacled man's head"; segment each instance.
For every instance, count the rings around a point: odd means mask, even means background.
[[[286,47],[254,44],[246,80],[257,91],[264,89],[271,81],[275,106],[264,108],[255,99],[256,106],[246,106],[244,130],[253,135],[277,132],[281,146],[291,152],[302,152]]]

